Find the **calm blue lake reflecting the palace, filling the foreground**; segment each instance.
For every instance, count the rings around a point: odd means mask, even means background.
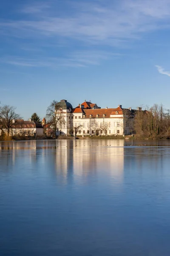
[[[169,256],[170,141],[0,142],[0,255]]]

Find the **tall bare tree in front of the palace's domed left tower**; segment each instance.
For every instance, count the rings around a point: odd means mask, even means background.
[[[54,137],[56,136],[57,128],[65,125],[64,114],[61,108],[57,106],[57,101],[53,100],[47,108],[46,119],[51,124],[54,130]]]

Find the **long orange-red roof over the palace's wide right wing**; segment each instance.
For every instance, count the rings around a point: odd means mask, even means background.
[[[90,118],[90,115],[92,115],[92,118],[96,118],[96,115],[99,115],[98,118],[103,118],[103,115],[105,115],[105,118],[110,118],[110,115],[116,115],[116,111],[119,115],[123,114],[122,108],[97,108],[97,109],[84,109],[85,118]]]

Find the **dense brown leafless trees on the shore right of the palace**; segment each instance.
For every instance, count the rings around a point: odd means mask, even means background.
[[[133,130],[136,137],[170,139],[170,110],[154,104],[145,111],[135,113]]]

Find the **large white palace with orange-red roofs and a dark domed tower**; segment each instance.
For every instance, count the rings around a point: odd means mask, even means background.
[[[61,100],[57,103],[58,111],[62,111],[65,123],[57,129],[57,135],[123,135],[132,134],[133,116],[136,110],[131,108],[100,108],[91,102],[83,102],[76,108]],[[77,128],[77,129],[76,129]]]

